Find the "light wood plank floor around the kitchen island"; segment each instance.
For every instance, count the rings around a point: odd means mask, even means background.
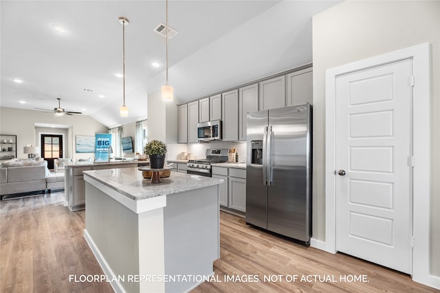
[[[71,274],[102,270],[83,238],[85,211],[70,212],[63,199],[59,193],[0,202],[0,292],[113,292],[105,282],[69,282]],[[406,274],[275,237],[224,212],[220,241],[216,281],[192,292],[440,292]],[[367,282],[340,282],[341,276],[362,274]],[[309,282],[290,280],[294,275],[309,276]]]

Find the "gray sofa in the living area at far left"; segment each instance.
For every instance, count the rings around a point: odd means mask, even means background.
[[[47,161],[12,161],[0,167],[0,196],[64,188],[64,173],[50,174]]]

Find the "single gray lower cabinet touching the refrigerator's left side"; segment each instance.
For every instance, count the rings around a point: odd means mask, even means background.
[[[229,168],[228,207],[246,211],[246,170]]]

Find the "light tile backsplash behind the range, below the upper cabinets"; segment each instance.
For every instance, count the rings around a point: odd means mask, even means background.
[[[166,145],[167,159],[168,160],[180,160],[181,152],[192,153],[197,156],[197,159],[206,158],[206,149],[208,148],[236,148],[236,152],[239,154],[239,162],[244,163],[246,161],[246,142],[223,142],[215,141],[210,143],[168,143]]]

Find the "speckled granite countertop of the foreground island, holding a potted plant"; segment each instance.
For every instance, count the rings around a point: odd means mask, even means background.
[[[224,182],[222,179],[171,172],[168,178],[160,179],[161,183],[151,184],[150,179],[142,177],[142,171],[137,167],[85,171],[83,174],[85,177],[90,176],[133,200],[177,194]]]

